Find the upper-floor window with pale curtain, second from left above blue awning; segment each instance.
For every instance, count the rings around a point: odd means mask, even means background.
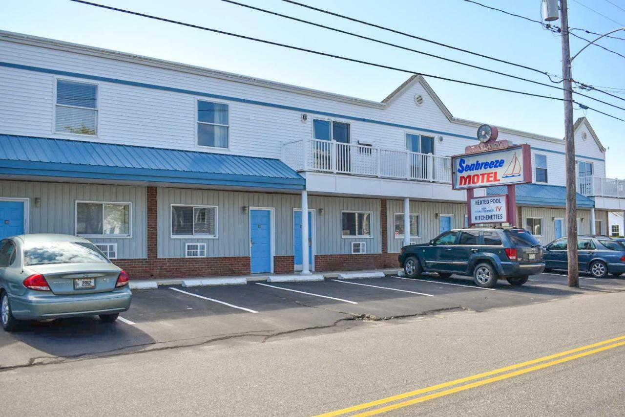
[[[227,148],[229,142],[229,106],[197,100],[197,145]]]

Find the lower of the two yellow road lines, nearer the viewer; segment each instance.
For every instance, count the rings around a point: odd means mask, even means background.
[[[419,397],[419,398],[411,399],[409,401],[404,401],[402,403],[391,404],[391,405],[386,406],[386,407],[374,409],[374,410],[371,410],[371,411],[365,411],[364,413],[354,414],[354,417],[366,417],[366,416],[373,416],[375,414],[386,413],[386,411],[391,411],[393,409],[406,407],[406,406],[409,406],[409,405],[412,405],[412,404],[423,403],[424,401],[428,401],[429,399],[439,398],[439,397],[443,397],[443,396],[446,396],[446,395],[449,395],[449,394],[458,393],[460,391],[465,391],[466,389],[471,389],[471,388],[475,388],[477,386],[494,383],[494,382],[497,382],[497,381],[501,381],[502,379],[512,378],[513,376],[519,376],[519,375],[526,374],[526,373],[529,373],[529,372],[532,372],[532,371],[537,371],[538,369],[548,368],[549,366],[554,366],[554,365],[557,365],[557,364],[560,364],[560,363],[572,361],[573,359],[583,358],[584,356],[588,356],[588,355],[591,355],[591,354],[599,353],[599,352],[602,352],[602,351],[607,351],[607,349],[618,348],[619,346],[624,346],[624,345],[625,345],[625,342],[609,344],[607,346],[602,346],[601,348],[592,349],[592,351],[586,351],[586,352],[578,353],[578,354],[573,355],[573,356],[567,356],[566,358],[556,359],[555,361],[551,361],[551,362],[547,362],[547,363],[541,363],[539,365],[532,366],[531,368],[519,369],[519,371],[510,372],[510,373],[502,374],[502,375],[499,375],[499,376],[493,376],[492,378],[483,379],[482,381],[477,381],[477,382],[474,382],[474,383],[471,383],[471,384],[462,385],[462,386],[459,386],[459,387],[456,387],[456,388],[446,389],[445,391],[441,391],[439,393],[429,394],[429,395],[422,396],[422,397]]]

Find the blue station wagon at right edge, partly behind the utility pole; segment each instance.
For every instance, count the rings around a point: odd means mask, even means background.
[[[545,267],[568,269],[567,238],[556,239],[544,247]],[[595,278],[607,274],[621,275],[625,272],[625,245],[619,239],[601,235],[577,237],[577,260],[579,270],[590,272]]]

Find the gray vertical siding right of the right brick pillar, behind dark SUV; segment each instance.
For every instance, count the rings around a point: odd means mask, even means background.
[[[403,200],[387,200],[386,202],[386,230],[388,232],[388,251],[389,253],[399,252],[399,249],[404,245],[404,239],[398,239],[395,237],[395,213],[404,212]],[[420,223],[419,238],[412,237],[411,240],[417,244],[429,242],[439,235],[440,224],[439,219],[436,218],[436,214],[451,214],[453,215],[452,227],[464,227],[464,215],[467,213],[466,204],[458,203],[436,203],[436,202],[424,202],[424,201],[411,201],[410,202],[411,214],[419,214]]]

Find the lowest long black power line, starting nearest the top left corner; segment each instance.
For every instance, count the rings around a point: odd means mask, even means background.
[[[150,14],[139,13],[139,12],[130,11],[130,10],[126,10],[126,9],[114,8],[113,6],[105,6],[104,4],[92,3],[92,2],[86,1],[86,0],[69,0],[69,1],[73,1],[74,3],[88,4],[89,6],[95,6],[95,7],[98,7],[98,8],[109,9],[109,10],[113,10],[113,11],[119,11],[121,13],[133,14],[135,16],[141,16],[143,18],[148,18],[148,19],[154,19],[154,20],[168,22],[168,23],[179,24],[181,26],[187,26],[189,28],[202,29],[202,30],[205,30],[205,31],[213,32],[213,33],[225,34],[227,36],[234,36],[236,38],[247,39],[247,40],[256,41],[256,42],[259,42],[259,43],[270,44],[270,45],[274,45],[274,46],[281,46],[283,48],[294,49],[296,51],[302,51],[302,52],[317,54],[317,55],[321,55],[321,56],[328,56],[330,58],[342,59],[343,61],[349,61],[349,62],[365,64],[365,65],[369,65],[369,66],[375,66],[377,68],[384,68],[386,70],[400,71],[402,73],[409,73],[411,75],[427,76],[427,77],[430,77],[430,78],[434,78],[436,80],[451,81],[451,82],[454,82],[454,83],[459,83],[459,84],[464,84],[464,85],[471,85],[471,86],[476,86],[476,87],[481,87],[481,88],[488,88],[489,90],[505,91],[506,93],[515,93],[515,94],[525,95],[525,96],[546,98],[546,99],[549,99],[549,100],[564,101],[563,98],[539,95],[539,94],[534,94],[534,93],[527,93],[527,91],[510,90],[508,88],[502,88],[502,87],[496,87],[496,86],[490,86],[490,85],[471,83],[470,81],[455,80],[454,78],[447,78],[447,77],[442,77],[442,76],[437,76],[437,75],[428,75],[428,74],[424,74],[424,73],[419,73],[417,71],[406,70],[406,69],[403,69],[403,68],[397,68],[397,67],[393,67],[393,66],[389,66],[389,65],[371,63],[371,62],[368,62],[368,61],[362,61],[361,59],[347,58],[345,56],[330,54],[330,53],[321,52],[321,51],[314,51],[312,49],[300,48],[299,46],[292,46],[292,45],[287,45],[287,44],[283,44],[283,43],[267,41],[265,39],[252,38],[251,36],[245,36],[245,35],[242,35],[242,34],[221,31],[219,29],[207,28],[206,26],[199,26],[197,24],[192,24],[192,23],[184,23],[184,22],[181,22],[181,21],[173,20],[173,19],[161,18],[159,16],[152,16]],[[589,109],[589,110],[594,110],[594,111],[597,111],[597,113],[601,113],[602,115],[606,115],[606,116],[609,116],[609,117],[617,119],[617,120],[625,121],[625,119],[619,118],[617,116],[610,115],[608,113],[604,113],[603,111],[596,110],[596,109],[591,108],[589,106],[582,105],[581,103],[578,103],[577,101],[573,101],[573,102],[576,103],[577,105],[582,106],[582,108],[586,108],[586,109]]]

